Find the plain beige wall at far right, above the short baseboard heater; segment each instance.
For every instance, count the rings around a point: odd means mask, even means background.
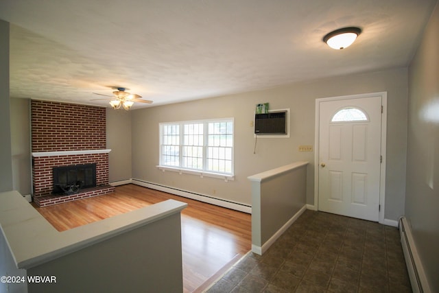
[[[431,292],[439,292],[439,4],[409,69],[405,211]]]

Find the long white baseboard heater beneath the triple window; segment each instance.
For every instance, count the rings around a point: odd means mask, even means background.
[[[245,204],[239,204],[237,202],[229,202],[227,200],[222,200],[219,198],[212,198],[211,196],[204,196],[202,194],[195,194],[193,192],[184,191],[184,190],[176,189],[173,187],[158,185],[155,183],[149,183],[149,182],[139,180],[139,179],[133,178],[131,181],[132,181],[131,182],[132,184],[151,188],[151,189],[156,189],[156,190],[160,190],[160,191],[165,191],[169,194],[175,194],[176,196],[182,196],[184,198],[191,198],[192,200],[198,200],[200,202],[206,202],[208,204],[215,204],[219,207],[225,207],[227,209],[233,209],[235,211],[242,211],[244,213],[250,213],[250,214],[252,213],[252,207],[245,205]]]

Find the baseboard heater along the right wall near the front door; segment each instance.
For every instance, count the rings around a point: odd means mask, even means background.
[[[401,217],[399,219],[399,233],[401,235],[401,245],[403,246],[405,264],[407,266],[407,272],[410,277],[413,292],[431,292],[422,263],[420,262],[418,251],[416,250],[416,246],[414,244],[412,228],[410,228],[410,225],[405,217]]]

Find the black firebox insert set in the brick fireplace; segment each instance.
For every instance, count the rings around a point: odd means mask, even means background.
[[[96,164],[54,167],[53,194],[77,194],[80,189],[96,186]]]

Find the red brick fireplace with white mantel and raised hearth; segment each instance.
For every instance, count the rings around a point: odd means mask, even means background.
[[[32,183],[39,207],[108,194],[106,109],[32,100]],[[54,194],[54,167],[95,164],[95,187]]]

